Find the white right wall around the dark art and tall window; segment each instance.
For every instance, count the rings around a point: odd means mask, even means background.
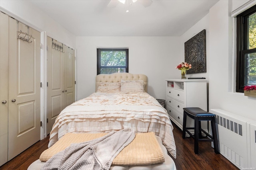
[[[202,20],[180,38],[181,59],[184,43],[194,34],[206,29],[206,73],[188,77],[206,77],[209,82],[209,110],[223,109],[256,120],[256,98],[235,92],[236,56],[233,51],[233,20],[231,11],[248,1],[219,1]],[[235,41],[235,40],[234,40]]]

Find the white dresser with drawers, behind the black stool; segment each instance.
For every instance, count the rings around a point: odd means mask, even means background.
[[[200,107],[207,111],[206,79],[166,79],[166,110],[180,129],[183,125],[184,107]],[[194,121],[190,117],[187,117],[187,127],[194,127]],[[202,128],[207,130],[207,124],[202,124]]]

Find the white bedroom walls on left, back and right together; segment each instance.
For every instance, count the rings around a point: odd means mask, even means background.
[[[233,3],[232,3],[233,2]],[[95,91],[96,47],[129,47],[129,72],[148,76],[148,93],[165,99],[164,79],[180,78],[175,66],[184,61],[184,42],[206,29],[206,73],[188,77],[209,80],[209,109],[219,108],[256,120],[256,98],[234,92],[235,56],[231,11],[248,0],[219,1],[209,14],[181,37],[75,37],[27,1],[1,0],[0,9],[38,31],[77,49],[77,99]],[[29,12],[28,12],[29,11]],[[33,14],[33,15],[31,15]]]

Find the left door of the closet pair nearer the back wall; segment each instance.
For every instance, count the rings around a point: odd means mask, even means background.
[[[65,53],[52,43],[62,46],[60,42],[47,37],[47,134],[52,130],[56,117],[67,106],[64,89]]]

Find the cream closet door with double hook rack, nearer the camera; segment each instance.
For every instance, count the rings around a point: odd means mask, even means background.
[[[28,27],[18,26],[25,37]],[[40,32],[29,34],[31,43],[18,39],[9,17],[8,160],[40,140]]]

